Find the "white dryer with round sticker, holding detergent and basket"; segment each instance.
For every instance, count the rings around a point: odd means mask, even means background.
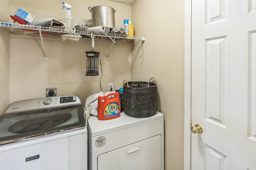
[[[89,96],[90,101],[98,94]],[[97,101],[97,100],[96,100]],[[92,114],[97,102],[93,102]],[[164,116],[157,112],[148,118],[120,117],[88,120],[89,170],[164,170]]]

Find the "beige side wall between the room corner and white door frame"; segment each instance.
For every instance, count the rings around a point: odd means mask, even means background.
[[[135,35],[146,36],[143,49],[133,45],[132,80],[156,78],[158,111],[165,123],[165,169],[183,170],[184,1],[137,0],[132,23]]]

